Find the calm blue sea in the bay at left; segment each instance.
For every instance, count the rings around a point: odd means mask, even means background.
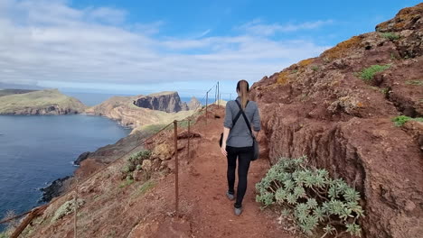
[[[72,175],[84,151],[117,142],[130,130],[94,115],[0,115],[0,218],[39,205],[40,188]],[[0,231],[5,226],[0,226]]]

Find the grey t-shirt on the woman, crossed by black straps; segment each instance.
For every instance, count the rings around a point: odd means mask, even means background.
[[[240,102],[240,96],[237,99]],[[226,104],[226,114],[224,127],[230,128],[230,134],[226,145],[231,147],[247,147],[252,146],[252,138],[249,133],[249,127],[245,123],[244,117],[240,114],[240,118],[237,123],[233,126],[232,121],[240,112],[240,107],[235,101],[229,101]],[[258,106],[256,102],[249,101],[249,104],[244,109],[244,113],[249,119],[251,130],[256,132],[260,131],[260,114],[258,113]]]

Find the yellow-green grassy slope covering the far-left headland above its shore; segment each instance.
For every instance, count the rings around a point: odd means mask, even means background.
[[[75,112],[83,112],[85,105],[78,99],[65,96],[57,89],[34,91],[24,94],[2,96],[0,100],[0,114],[15,114],[28,112],[32,109],[42,110],[58,106]]]

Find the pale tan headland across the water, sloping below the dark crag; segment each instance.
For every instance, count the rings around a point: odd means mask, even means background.
[[[162,95],[150,95],[150,96],[113,96],[108,100],[104,101],[99,105],[89,107],[86,110],[87,114],[98,114],[104,115],[113,120],[117,120],[120,124],[129,126],[131,128],[140,128],[146,124],[168,124],[173,120],[178,120],[191,114],[190,111],[180,111],[178,113],[165,113],[164,111],[155,110],[157,108],[167,108],[174,110],[177,106],[175,102],[180,102],[177,93]],[[174,99],[170,99],[170,96],[175,96]],[[176,97],[177,96],[177,97]],[[144,108],[136,105],[139,99],[150,98],[152,103],[158,102],[155,109]],[[152,99],[153,98],[153,99]],[[155,100],[156,98],[157,100]],[[162,100],[160,98],[167,98]],[[171,103],[171,105],[165,105],[164,101]]]

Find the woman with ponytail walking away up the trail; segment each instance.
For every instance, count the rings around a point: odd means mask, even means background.
[[[260,131],[260,115],[258,106],[255,102],[249,101],[249,83],[246,80],[240,80],[237,84],[238,97],[236,101],[240,104],[242,110],[247,115],[249,124],[257,136]],[[226,105],[225,122],[223,127],[223,140],[221,144],[221,153],[228,159],[228,191],[226,196],[233,200],[235,198],[235,169],[237,168],[238,158],[238,189],[237,199],[234,204],[235,215],[242,213],[242,199],[247,190],[247,175],[249,173],[249,162],[253,158],[254,148],[252,136],[249,128],[240,113],[240,106],[236,101],[230,101]],[[238,116],[237,116],[238,115]],[[235,122],[234,119],[237,119]]]

